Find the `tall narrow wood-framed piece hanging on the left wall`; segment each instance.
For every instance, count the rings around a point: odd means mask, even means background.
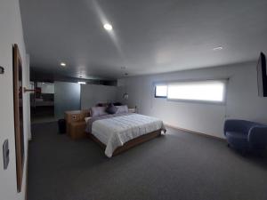
[[[13,50],[13,100],[14,100],[14,130],[16,146],[17,189],[21,191],[24,166],[24,132],[23,132],[23,87],[22,87],[22,61],[17,44]]]

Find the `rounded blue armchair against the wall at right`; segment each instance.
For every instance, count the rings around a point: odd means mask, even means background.
[[[242,151],[267,147],[267,125],[228,119],[224,123],[224,135],[230,147]]]

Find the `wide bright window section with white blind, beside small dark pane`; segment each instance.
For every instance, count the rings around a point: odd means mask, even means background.
[[[223,102],[225,84],[223,80],[169,83],[167,99]]]

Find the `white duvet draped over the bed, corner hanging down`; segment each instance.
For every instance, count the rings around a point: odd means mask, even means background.
[[[133,114],[94,121],[91,133],[106,145],[105,154],[111,157],[128,140],[158,129],[166,130],[158,118]]]

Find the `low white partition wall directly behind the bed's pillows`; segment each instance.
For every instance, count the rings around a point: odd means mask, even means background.
[[[117,87],[82,84],[81,85],[81,108],[87,109],[95,106],[97,103],[109,103],[116,101]]]

